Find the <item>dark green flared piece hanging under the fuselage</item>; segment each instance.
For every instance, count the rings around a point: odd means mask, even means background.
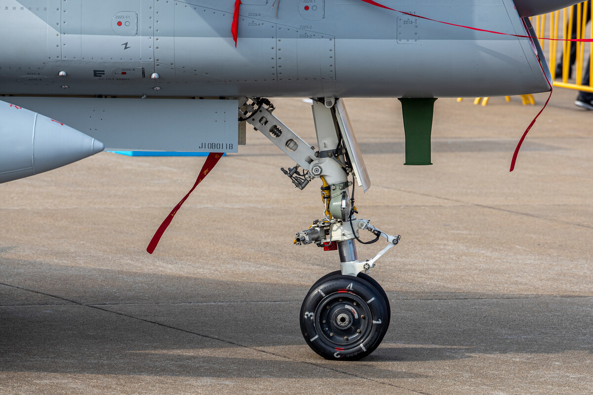
[[[432,114],[436,98],[399,98],[406,132],[406,163],[432,165]]]

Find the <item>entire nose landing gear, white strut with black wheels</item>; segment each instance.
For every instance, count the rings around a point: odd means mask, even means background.
[[[298,232],[294,244],[337,250],[341,270],[321,277],[305,296],[300,316],[305,341],[327,359],[366,357],[380,345],[391,319],[387,295],[368,273],[378,258],[397,245],[400,236],[387,235],[369,220],[356,219],[353,184],[358,182],[366,192],[370,181],[343,102],[335,98],[313,100],[318,150],[272,115],[275,107],[269,100],[243,98],[239,104],[240,121],[251,124],[297,162],[288,171],[282,168],[295,187],[302,190],[315,178],[323,183],[323,218]],[[362,242],[361,230],[368,230],[375,239]],[[387,246],[374,258],[360,261],[355,240],[374,243],[381,237]]]

